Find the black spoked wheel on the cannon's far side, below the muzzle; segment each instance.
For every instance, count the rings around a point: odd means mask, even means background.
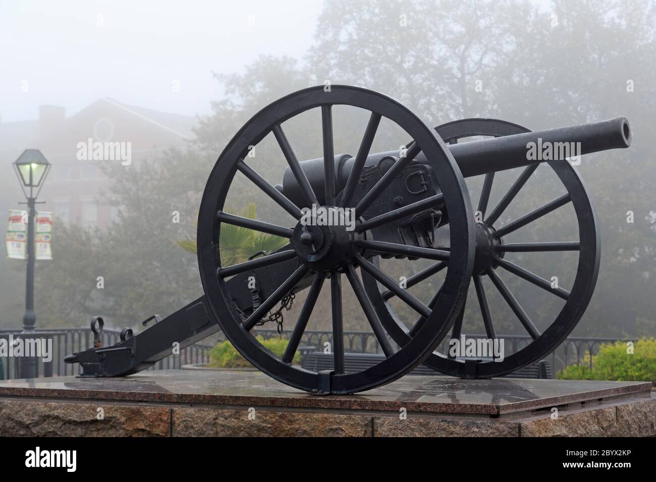
[[[508,136],[529,132],[529,129],[496,119],[464,119],[436,127],[436,131],[445,142],[456,144],[462,138],[472,136]],[[483,324],[485,325],[485,334],[491,340],[497,338],[494,313],[489,308],[487,295],[483,287],[483,278],[489,277],[495,289],[499,291],[502,298],[510,306],[518,323],[529,334],[529,343],[515,353],[506,355],[503,361],[476,359],[476,357],[450,357],[448,353],[435,352],[426,359],[424,362],[425,365],[444,374],[459,376],[461,378],[491,378],[493,376],[508,374],[538,361],[557,348],[574,329],[579,319],[581,319],[592,297],[599,272],[600,235],[596,212],[581,180],[581,176],[579,176],[579,172],[577,172],[569,161],[550,161],[548,165],[556,173],[558,178],[560,178],[560,182],[562,182],[567,190],[567,193],[564,195],[556,197],[553,201],[544,204],[534,211],[528,212],[508,224],[499,226],[501,214],[522,190],[527,180],[531,177],[531,174],[539,167],[539,164],[535,164],[523,169],[514,184],[503,195],[499,204],[489,212],[487,204],[495,173],[486,174],[478,204],[478,211],[480,211],[483,218],[482,222],[476,224],[476,262],[474,263],[472,281],[476,288],[477,301],[482,314]],[[506,235],[519,230],[529,223],[539,221],[542,216],[569,203],[573,205],[577,216],[578,241],[545,239],[539,243],[504,242]],[[453,220],[451,217],[449,219]],[[562,287],[554,288],[550,281],[504,259],[504,254],[507,252],[530,254],[531,252],[545,251],[579,251],[579,262],[571,289],[567,290]],[[449,261],[437,262],[425,270],[420,271],[417,275],[407,280],[407,287],[412,287],[438,271],[446,269],[448,264]],[[553,296],[558,296],[565,300],[562,310],[560,310],[546,330],[540,332],[535,327],[529,315],[527,315],[518,300],[510,292],[510,289],[508,289],[506,283],[497,274],[499,270],[508,271],[508,273],[516,275],[522,281],[533,283],[533,285],[551,292]],[[415,321],[414,325],[407,327],[398,318],[392,306],[390,306],[390,298],[396,296],[394,292],[380,287],[375,279],[371,279],[371,277],[363,277],[363,283],[365,284],[367,293],[373,300],[382,325],[397,344],[403,346],[417,336],[418,332],[415,330],[415,327],[421,325],[421,317]],[[437,308],[439,306],[439,295],[443,289],[444,287],[440,287],[438,292],[430,300],[428,303],[430,308]],[[451,340],[459,339],[463,334],[463,313],[461,313],[456,323],[454,323]]]

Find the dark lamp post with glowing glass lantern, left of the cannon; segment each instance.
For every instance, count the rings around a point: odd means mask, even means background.
[[[23,315],[23,332],[34,331],[36,315],[34,314],[34,217],[36,199],[41,191],[51,164],[37,149],[26,149],[14,162],[14,170],[20,181],[20,187],[28,202],[28,238],[27,257],[28,270],[25,281],[25,314]],[[36,192],[35,192],[36,191]],[[22,363],[21,376],[34,378],[36,376],[36,358],[26,357]]]

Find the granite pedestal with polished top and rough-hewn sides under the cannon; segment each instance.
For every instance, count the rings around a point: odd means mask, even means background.
[[[356,395],[310,395],[253,371],[0,382],[0,436],[645,436],[645,382],[406,376]]]

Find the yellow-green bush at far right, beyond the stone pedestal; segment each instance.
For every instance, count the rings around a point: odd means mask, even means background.
[[[560,380],[623,380],[656,384],[656,340],[641,338],[628,353],[626,342],[603,344],[599,353],[583,357],[581,365],[569,365],[558,372]]]

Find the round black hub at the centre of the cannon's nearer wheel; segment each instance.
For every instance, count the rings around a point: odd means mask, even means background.
[[[352,225],[351,225],[352,226]],[[314,271],[343,271],[353,263],[357,231],[348,230],[344,212],[321,206],[304,216],[294,228],[290,244],[298,258]]]

